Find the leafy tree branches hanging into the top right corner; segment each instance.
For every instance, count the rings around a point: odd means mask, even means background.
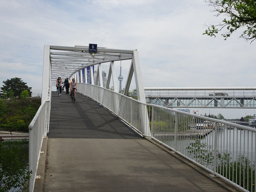
[[[228,16],[222,23],[208,26],[203,35],[214,36],[222,29],[227,30],[221,34],[226,40],[234,31],[244,28],[241,38],[251,43],[256,39],[256,0],[205,0],[217,12],[215,16],[221,14]]]

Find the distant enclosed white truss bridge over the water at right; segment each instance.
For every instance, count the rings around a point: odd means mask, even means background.
[[[256,108],[256,87],[147,87],[146,102],[167,108]]]

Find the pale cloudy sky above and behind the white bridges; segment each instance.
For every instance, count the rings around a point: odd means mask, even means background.
[[[19,77],[41,89],[44,45],[89,43],[137,49],[144,87],[255,86],[256,42],[239,38],[241,30],[226,41],[202,35],[222,19],[211,9],[204,0],[0,0],[0,86]],[[122,62],[123,82],[129,64]]]

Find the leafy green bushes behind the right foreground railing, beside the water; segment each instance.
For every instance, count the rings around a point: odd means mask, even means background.
[[[197,139],[186,149],[190,158],[205,167],[213,167],[214,158],[210,145],[201,143],[200,139]],[[236,159],[232,159],[232,153],[217,151],[217,173],[249,192],[255,191],[255,162],[251,162],[244,155],[239,154]]]

